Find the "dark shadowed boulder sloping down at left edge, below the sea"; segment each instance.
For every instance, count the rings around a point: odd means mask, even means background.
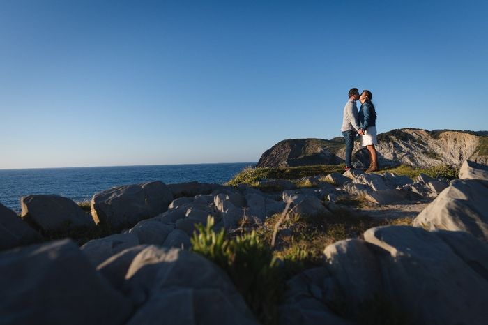
[[[0,250],[40,241],[41,236],[17,213],[0,203]]]

